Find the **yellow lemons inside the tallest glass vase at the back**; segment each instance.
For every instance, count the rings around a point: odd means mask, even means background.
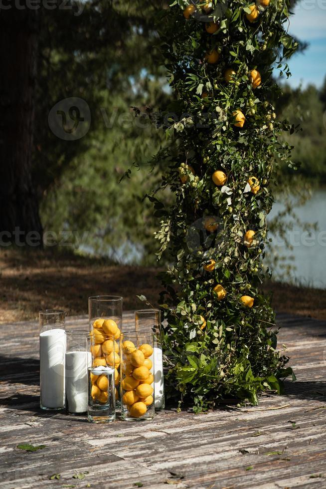
[[[119,343],[120,329],[113,319],[96,319],[93,323],[93,329],[90,332],[92,336],[91,353],[93,355],[92,367],[100,367],[110,365],[115,371],[115,385],[120,382],[120,374],[118,371],[120,365]],[[111,336],[112,339],[107,339]],[[108,401],[108,378],[105,374],[91,374],[93,400],[106,403]],[[116,399],[119,397],[116,388]]]

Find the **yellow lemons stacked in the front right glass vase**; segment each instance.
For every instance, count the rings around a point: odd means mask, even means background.
[[[136,348],[132,341],[124,341],[122,352],[122,402],[133,418],[140,418],[154,402],[154,375],[151,372],[153,365],[150,360],[153,348],[147,343]]]

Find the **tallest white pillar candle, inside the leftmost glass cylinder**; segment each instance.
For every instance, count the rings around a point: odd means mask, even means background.
[[[50,329],[39,335],[40,346],[40,396],[41,405],[60,409],[65,405],[65,353],[64,329]]]

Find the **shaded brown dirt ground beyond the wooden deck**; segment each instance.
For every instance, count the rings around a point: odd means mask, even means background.
[[[157,305],[162,290],[157,268],[110,264],[107,260],[40,250],[0,250],[0,324],[37,319],[40,309],[87,314],[90,295],[122,295],[124,309]],[[326,290],[266,283],[278,312],[326,319]]]

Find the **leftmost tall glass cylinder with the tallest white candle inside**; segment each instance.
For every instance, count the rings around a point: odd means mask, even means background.
[[[65,408],[65,311],[39,311],[40,407]]]

